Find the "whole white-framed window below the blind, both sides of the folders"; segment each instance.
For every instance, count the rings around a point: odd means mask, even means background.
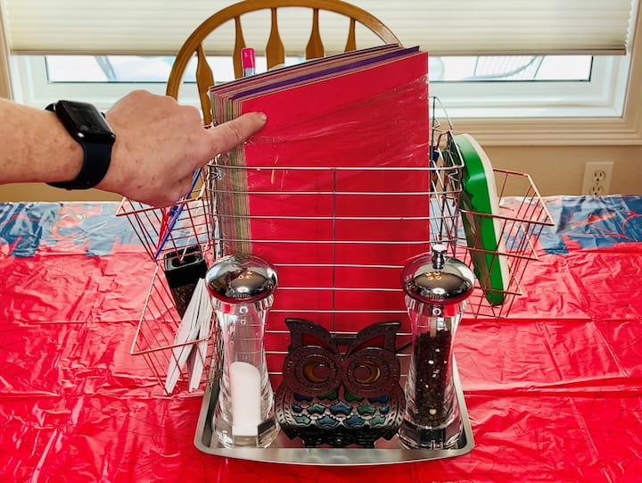
[[[136,88],[163,94],[173,62],[170,56],[134,55],[12,60],[22,102],[43,106],[67,97],[102,109]],[[209,61],[218,82],[234,78],[229,57]],[[265,71],[265,60],[257,62],[257,70]],[[612,116],[621,115],[628,67],[626,56],[434,56],[429,71],[431,95],[440,97],[451,117]],[[195,62],[185,71],[187,84],[194,70]],[[180,101],[198,105],[195,89],[185,85]]]

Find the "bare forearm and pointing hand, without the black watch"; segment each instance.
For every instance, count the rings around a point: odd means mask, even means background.
[[[194,170],[261,129],[266,116],[247,113],[203,129],[194,107],[135,91],[111,107],[107,121],[116,141],[95,187],[161,207],[185,196]],[[76,179],[83,159],[55,113],[0,99],[0,184]]]

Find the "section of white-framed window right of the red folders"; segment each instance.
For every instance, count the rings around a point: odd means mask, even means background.
[[[431,83],[454,118],[621,116],[629,56],[458,57]],[[507,61],[507,62],[506,62]],[[480,64],[484,64],[481,69]],[[502,65],[500,65],[502,64]],[[536,65],[535,65],[536,64]],[[449,67],[457,74],[450,74]],[[489,68],[493,67],[495,71]]]

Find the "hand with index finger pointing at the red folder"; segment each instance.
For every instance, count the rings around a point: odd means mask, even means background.
[[[265,114],[251,112],[203,129],[195,107],[142,90],[120,99],[106,119],[116,143],[110,169],[97,187],[156,207],[185,196],[194,170],[243,143],[266,122]]]

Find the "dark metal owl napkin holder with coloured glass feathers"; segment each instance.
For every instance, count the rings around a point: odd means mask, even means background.
[[[291,344],[276,391],[284,434],[305,447],[372,448],[394,437],[405,408],[395,355],[400,322],[374,323],[351,336],[303,319],[285,324]]]

